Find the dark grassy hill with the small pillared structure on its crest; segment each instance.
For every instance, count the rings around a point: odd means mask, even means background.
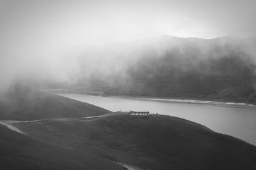
[[[256,148],[176,117],[49,120],[17,127],[37,139],[144,169],[253,169]],[[65,140],[63,140],[65,139]]]

